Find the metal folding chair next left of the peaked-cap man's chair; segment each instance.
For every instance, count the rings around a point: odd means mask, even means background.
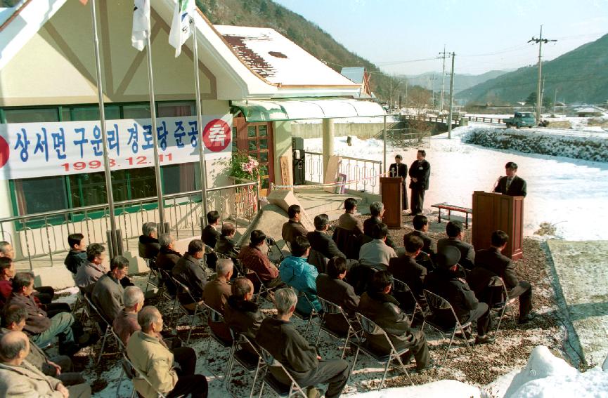
[[[402,348],[401,350],[397,350],[395,348],[395,346],[393,345],[393,342],[387,335],[387,332],[384,331],[384,329],[382,329],[380,326],[378,326],[374,321],[372,321],[368,317],[364,317],[362,314],[359,314],[358,312],[356,312],[356,317],[357,317],[357,320],[359,321],[359,324],[361,324],[361,330],[363,331],[363,336],[365,336],[366,338],[369,338],[370,336],[384,337],[384,339],[387,341],[388,347],[390,347],[390,352],[388,354],[386,354],[384,352],[377,352],[376,350],[373,350],[370,346],[368,346],[366,344],[366,340],[363,340],[361,343],[356,344],[357,350],[355,352],[355,358],[353,359],[353,366],[351,368],[351,372],[353,369],[355,369],[357,357],[358,357],[359,351],[361,351],[361,352],[363,352],[363,354],[366,354],[368,357],[375,359],[375,361],[377,361],[378,363],[386,364],[386,365],[384,365],[384,373],[382,373],[382,380],[380,380],[380,385],[378,386],[379,391],[382,390],[382,385],[384,385],[384,380],[387,378],[389,366],[391,365],[391,362],[394,361],[395,359],[399,362],[399,370],[403,371],[403,373],[405,373],[406,376],[408,376],[408,380],[410,380],[410,384],[413,385],[414,382],[410,376],[410,373],[408,372],[408,369],[406,369],[406,366],[403,364],[403,361],[401,361],[401,355],[404,354],[405,352],[407,352],[410,348],[406,347],[406,348]]]

